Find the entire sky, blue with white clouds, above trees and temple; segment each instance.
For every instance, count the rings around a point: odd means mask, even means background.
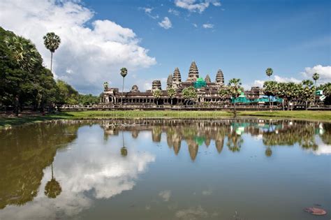
[[[328,0],[1,0],[0,26],[30,38],[50,66],[43,36],[61,45],[53,73],[83,94],[100,94],[103,82],[124,90],[151,89],[176,67],[182,80],[196,61],[212,81],[240,78],[246,89],[272,80],[300,82],[319,73],[331,82],[331,1]]]

